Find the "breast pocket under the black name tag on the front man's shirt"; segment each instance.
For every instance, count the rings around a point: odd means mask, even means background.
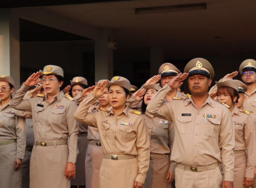
[[[181,134],[190,134],[193,125],[192,116],[177,115],[177,130]]]

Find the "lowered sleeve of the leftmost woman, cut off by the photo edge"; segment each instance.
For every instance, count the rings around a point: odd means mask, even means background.
[[[20,118],[16,115],[15,119],[15,134],[17,136],[17,152],[15,158],[24,158],[26,149],[26,122],[24,118]]]

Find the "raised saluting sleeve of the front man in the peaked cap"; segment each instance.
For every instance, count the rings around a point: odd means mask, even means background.
[[[164,120],[169,120],[172,122],[171,116],[173,113],[172,107],[170,105],[172,101],[164,103],[164,98],[170,90],[171,88],[168,85],[165,85],[162,89],[160,89],[150,101],[146,110],[148,111],[148,113],[158,118],[162,118]]]

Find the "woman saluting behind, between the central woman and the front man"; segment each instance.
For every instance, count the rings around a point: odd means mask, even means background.
[[[142,117],[150,135],[150,168],[144,185],[146,188],[158,188],[160,185],[162,188],[168,188],[171,187],[170,182],[174,180],[174,163],[170,163],[170,151],[174,141],[172,122],[146,112],[148,103],[159,89],[161,87],[157,84],[144,85],[143,89],[139,89],[129,99],[130,103],[142,99]]]

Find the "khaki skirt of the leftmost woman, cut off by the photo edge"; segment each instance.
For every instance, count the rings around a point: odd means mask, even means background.
[[[0,187],[22,187],[22,168],[14,171],[17,144],[0,146]]]

